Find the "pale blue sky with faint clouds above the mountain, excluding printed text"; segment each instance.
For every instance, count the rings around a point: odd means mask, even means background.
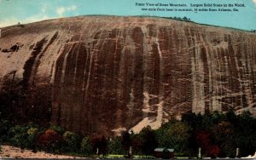
[[[245,3],[246,7],[239,12],[157,12],[142,11],[136,3]],[[0,0],[0,27],[86,14],[187,16],[199,23],[256,29],[256,0]]]

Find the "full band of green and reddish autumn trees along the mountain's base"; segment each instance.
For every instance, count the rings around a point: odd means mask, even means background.
[[[61,127],[48,128],[35,123],[15,125],[1,119],[1,143],[33,151],[48,151],[77,156],[134,155],[152,156],[154,148],[173,148],[179,157],[197,157],[201,147],[204,157],[239,157],[252,155],[256,148],[256,119],[249,112],[236,116],[213,112],[206,115],[185,114],[181,121],[171,120],[160,129],[144,128],[139,134],[124,132],[119,137],[79,136]]]

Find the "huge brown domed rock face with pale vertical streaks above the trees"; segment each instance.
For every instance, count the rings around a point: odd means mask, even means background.
[[[256,115],[255,33],[85,16],[2,28],[0,48],[1,92],[18,94],[20,121],[117,134],[188,111]]]

